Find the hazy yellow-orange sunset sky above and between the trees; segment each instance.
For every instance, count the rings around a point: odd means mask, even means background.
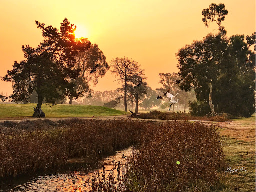
[[[175,54],[185,44],[217,32],[206,28],[201,11],[211,3],[224,3],[227,36],[255,31],[255,0],[0,0],[0,76],[23,59],[21,46],[36,47],[43,39],[35,20],[60,27],[66,17],[86,31],[109,63],[115,57],[136,60],[153,89],[160,87],[158,73],[178,72]],[[108,71],[94,90],[118,87]],[[0,92],[12,93],[11,83],[0,80]]]

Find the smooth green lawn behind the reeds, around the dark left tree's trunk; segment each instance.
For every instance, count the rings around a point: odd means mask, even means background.
[[[29,104],[0,104],[0,119],[3,118],[28,118],[33,115],[33,107],[36,103]],[[90,105],[69,105],[57,104],[56,106],[42,105],[42,110],[46,118],[57,117],[92,117],[95,116],[112,116],[128,114],[127,112],[106,108],[102,106]]]

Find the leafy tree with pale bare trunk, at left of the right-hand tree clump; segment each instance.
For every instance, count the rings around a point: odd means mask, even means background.
[[[209,102],[212,114],[215,113],[212,92],[220,77],[220,66],[223,64],[226,48],[225,38],[220,34],[209,34],[203,40],[194,41],[179,49],[176,54],[179,75],[184,78],[181,89],[188,91],[194,88],[197,100]]]

